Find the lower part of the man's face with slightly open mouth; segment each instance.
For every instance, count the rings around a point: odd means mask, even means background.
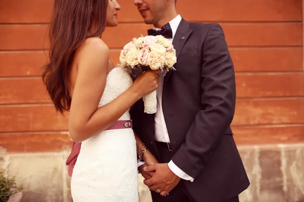
[[[166,14],[166,0],[134,0],[145,24],[155,24]]]

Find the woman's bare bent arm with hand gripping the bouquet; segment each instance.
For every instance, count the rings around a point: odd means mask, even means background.
[[[75,142],[84,141],[111,126],[138,99],[158,86],[159,72],[146,72],[119,97],[98,108],[106,84],[109,48],[101,39],[91,39],[85,41],[79,53],[70,107],[69,132]]]

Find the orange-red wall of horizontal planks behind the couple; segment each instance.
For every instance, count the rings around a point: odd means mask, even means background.
[[[0,145],[8,151],[54,151],[70,144],[67,117],[55,113],[40,76],[52,3],[0,1]],[[102,36],[115,63],[120,49],[150,28],[132,1],[119,3],[121,24]],[[304,141],[301,4],[178,0],[186,20],[218,22],[224,29],[236,70],[238,144]]]

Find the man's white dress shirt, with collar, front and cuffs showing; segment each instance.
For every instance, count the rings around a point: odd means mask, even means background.
[[[173,20],[169,22],[171,29],[172,29],[172,36],[174,38],[175,33],[177,31],[178,25],[181,21],[180,15],[176,16]],[[158,29],[155,28],[154,29]],[[173,38],[168,39],[171,43],[173,41]],[[159,142],[168,142],[170,143],[169,134],[165,122],[165,117],[163,114],[163,106],[162,106],[162,94],[163,94],[163,86],[164,86],[164,77],[160,76],[160,82],[159,87],[157,89],[157,112],[155,115],[155,140]],[[138,166],[142,165],[143,163],[139,163]],[[185,172],[183,172],[180,168],[178,168],[173,161],[171,160],[168,163],[169,168],[171,171],[184,180],[190,180],[194,181],[194,179],[187,175]]]

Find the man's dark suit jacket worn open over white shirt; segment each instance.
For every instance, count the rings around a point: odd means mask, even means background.
[[[172,161],[194,182],[182,180],[197,201],[223,201],[249,186],[230,124],[236,104],[233,62],[219,24],[182,19],[173,39],[176,71],[164,78],[163,113]],[[133,129],[161,161],[155,114],[140,99],[130,110]]]

